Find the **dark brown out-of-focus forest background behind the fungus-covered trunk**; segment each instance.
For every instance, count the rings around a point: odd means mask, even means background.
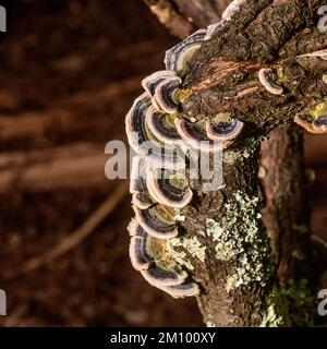
[[[11,19],[0,37],[0,325],[202,325],[194,299],[132,269],[128,184],[104,172],[106,143],[125,141],[141,80],[177,39],[142,0],[16,0]],[[305,147],[312,228],[327,238],[327,137]]]

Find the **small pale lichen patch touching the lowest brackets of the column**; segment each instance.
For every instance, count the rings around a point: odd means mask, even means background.
[[[187,255],[203,263],[206,258],[206,246],[204,246],[196,237],[170,239],[167,244],[167,251],[177,263],[185,266],[190,270],[193,270],[194,267],[187,258]]]

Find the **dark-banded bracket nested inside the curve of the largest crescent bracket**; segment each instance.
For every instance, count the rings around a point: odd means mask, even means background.
[[[174,119],[175,113],[164,113],[155,107],[150,107],[146,113],[146,125],[150,132],[162,143],[167,144],[184,144],[183,139],[178,133]]]

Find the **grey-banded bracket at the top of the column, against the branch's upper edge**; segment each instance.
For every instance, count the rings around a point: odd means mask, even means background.
[[[180,44],[166,51],[166,69],[181,72],[185,68],[186,62],[190,61],[194,52],[201,47],[206,33],[206,29],[199,29],[185,38]]]

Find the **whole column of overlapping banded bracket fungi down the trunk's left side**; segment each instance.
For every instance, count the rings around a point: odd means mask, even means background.
[[[180,233],[175,210],[193,200],[189,186],[190,148],[218,152],[241,133],[243,123],[233,118],[193,122],[180,111],[192,92],[178,75],[219,24],[199,29],[166,52],[166,70],[145,77],[144,93],[125,118],[129,143],[136,156],[130,192],[135,217],[129,225],[132,266],[153,286],[174,298],[196,296],[199,288],[185,267],[169,254],[169,241]]]

